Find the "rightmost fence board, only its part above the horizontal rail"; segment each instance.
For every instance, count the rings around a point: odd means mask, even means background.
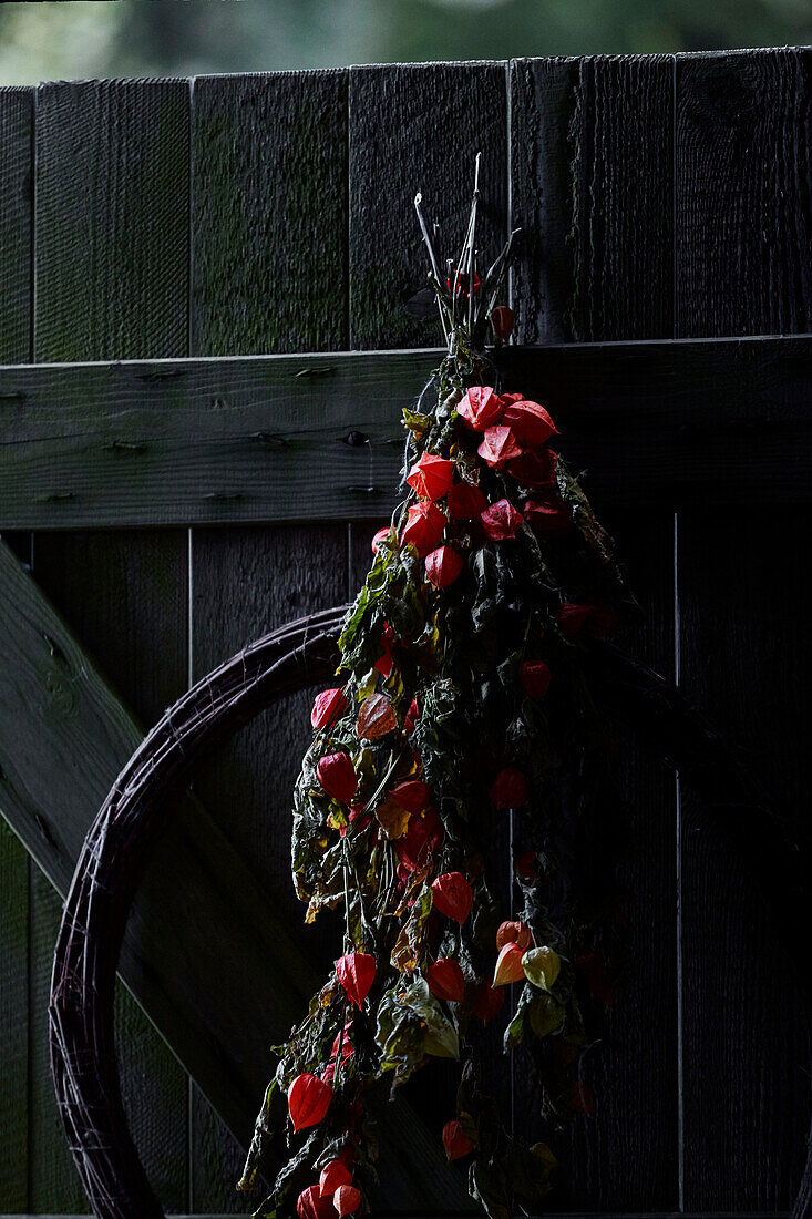
[[[680,335],[812,329],[812,51],[677,63]]]

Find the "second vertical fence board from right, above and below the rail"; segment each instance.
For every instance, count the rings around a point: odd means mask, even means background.
[[[511,65],[512,223],[525,238],[513,274],[519,340],[606,341],[673,333],[668,56],[518,60]],[[585,479],[589,492],[589,478]],[[673,669],[673,522],[612,519],[643,614],[629,646]],[[561,1136],[551,1206],[669,1209],[677,1184],[677,926],[673,777],[621,736],[628,803],[629,970],[586,1059],[595,1112]],[[534,1090],[517,1072],[517,1107]]]

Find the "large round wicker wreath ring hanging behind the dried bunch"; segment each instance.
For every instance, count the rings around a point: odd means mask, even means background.
[[[116,1061],[113,987],[129,908],[168,797],[204,751],[261,711],[335,670],[345,606],[289,623],[215,669],[156,724],[90,828],[76,865],[54,957],[51,1069],[82,1184],[98,1219],[162,1219],[127,1126]],[[788,818],[678,690],[612,645],[588,645],[600,695],[701,794],[718,824],[757,861],[755,874],[792,962],[803,959],[808,852]],[[796,951],[797,950],[797,951]],[[812,1007],[808,972],[797,970]],[[812,1143],[795,1219],[812,1214]]]

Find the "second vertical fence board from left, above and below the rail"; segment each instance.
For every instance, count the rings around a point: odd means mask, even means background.
[[[39,88],[38,361],[188,354],[188,82]],[[34,572],[137,714],[148,724],[157,718],[185,688],[185,534],[38,535]],[[54,898],[40,886],[37,901]],[[56,926],[46,915],[41,923],[33,968],[34,985],[46,993]],[[135,1145],[163,1204],[184,1209],[187,1076],[121,986],[116,1024]],[[35,1063],[32,1171],[43,1181],[35,1201],[44,1209],[68,1209],[78,1186],[61,1153],[65,1140],[39,1041]]]

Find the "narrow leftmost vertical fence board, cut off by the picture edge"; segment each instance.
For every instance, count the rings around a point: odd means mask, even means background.
[[[0,89],[0,358],[10,364],[30,357],[32,128],[33,90]],[[0,820],[0,1198],[11,1210],[28,1208],[28,856]]]

